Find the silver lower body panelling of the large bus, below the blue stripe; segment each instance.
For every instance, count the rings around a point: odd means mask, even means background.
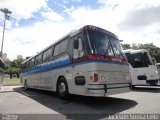
[[[33,73],[31,75],[26,75],[25,77],[23,77],[23,81],[26,79],[28,86],[32,88],[56,91],[57,80],[60,76],[63,76],[67,81],[69,93],[71,94],[86,95],[86,96],[105,96],[109,94],[116,94],[116,93],[122,93],[124,91],[127,92],[129,91],[129,87],[123,88],[123,86],[129,84],[129,80],[123,79],[124,74],[128,74],[128,72],[129,70],[127,65],[101,63],[101,62],[84,62],[84,63],[72,64],[67,67],[52,69],[41,73]],[[109,80],[92,82],[90,80],[90,76],[93,75],[93,73],[97,73],[99,75],[99,79],[101,78],[102,75],[103,76],[107,75],[109,77]],[[85,77],[84,85],[76,84],[75,78],[77,76]],[[122,83],[122,84],[116,84],[116,83]],[[105,92],[105,90],[89,91],[89,87],[91,87],[89,86],[90,84],[92,84],[92,87],[94,88],[104,87],[99,84],[106,84],[107,87],[117,87],[117,88],[109,89],[108,92]]]

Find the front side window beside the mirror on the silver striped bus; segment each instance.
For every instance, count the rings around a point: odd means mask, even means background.
[[[77,44],[77,45],[75,45]],[[81,58],[84,55],[82,39],[74,39],[73,59]]]

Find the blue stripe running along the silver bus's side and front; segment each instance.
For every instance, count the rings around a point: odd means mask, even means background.
[[[93,63],[93,62],[99,62],[99,63],[110,63],[110,64],[119,64],[119,65],[127,65],[128,64],[124,64],[118,61],[108,61],[108,60],[89,60],[89,61],[83,61],[83,62],[79,62],[79,63],[72,63],[71,60],[69,59],[69,57],[67,57],[66,59],[61,59],[59,61],[52,61],[49,63],[45,63],[39,66],[35,66],[32,68],[28,68],[24,71],[21,72],[21,75],[27,75],[27,74],[32,74],[32,73],[37,73],[37,72],[45,72],[45,71],[49,71],[49,70],[57,70],[57,69],[62,69],[62,68],[67,68],[67,67],[71,67],[71,66],[78,66],[78,65],[82,65],[82,64],[88,64],[88,63]]]

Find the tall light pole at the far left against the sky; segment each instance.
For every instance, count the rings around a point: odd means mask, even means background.
[[[9,20],[9,15],[12,12],[9,11],[7,8],[4,9],[0,9],[1,12],[4,13],[4,24],[3,24],[3,35],[2,35],[2,45],[1,45],[1,53],[0,53],[0,57],[2,57],[3,55],[3,42],[4,42],[4,33],[5,33],[5,27],[6,27],[6,20]]]

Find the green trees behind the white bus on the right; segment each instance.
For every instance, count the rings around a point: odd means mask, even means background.
[[[146,49],[150,52],[151,56],[156,59],[158,63],[160,63],[160,48],[155,46],[153,43],[149,44],[132,44],[132,47],[130,44],[123,44],[122,45],[124,49]]]

